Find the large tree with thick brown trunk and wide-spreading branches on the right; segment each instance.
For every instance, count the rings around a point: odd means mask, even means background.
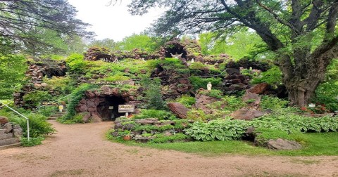
[[[129,5],[133,15],[154,6],[168,8],[154,25],[158,34],[255,30],[275,53],[292,105],[307,105],[337,58],[338,0],[133,0]]]

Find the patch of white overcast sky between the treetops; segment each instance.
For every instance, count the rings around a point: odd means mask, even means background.
[[[96,33],[96,39],[121,41],[133,33],[139,34],[151,26],[162,13],[160,8],[151,9],[145,15],[130,15],[127,4],[120,0],[115,6],[107,6],[110,0],[68,0],[77,9],[77,18],[92,25],[89,31]]]

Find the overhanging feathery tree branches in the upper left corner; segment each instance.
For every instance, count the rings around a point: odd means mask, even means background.
[[[12,47],[27,51],[37,46],[50,48],[41,34],[61,38],[91,35],[85,31],[88,24],[75,15],[67,0],[0,0],[0,37],[10,40]],[[8,44],[0,44],[4,45]]]

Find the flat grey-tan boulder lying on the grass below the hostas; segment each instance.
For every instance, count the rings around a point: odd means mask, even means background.
[[[293,140],[278,138],[277,140],[268,140],[268,148],[271,150],[298,150],[301,145]]]

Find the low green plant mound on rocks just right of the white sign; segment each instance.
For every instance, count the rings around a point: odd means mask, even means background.
[[[134,115],[133,119],[158,118],[159,120],[177,119],[171,112],[165,110],[142,110],[141,114]]]

